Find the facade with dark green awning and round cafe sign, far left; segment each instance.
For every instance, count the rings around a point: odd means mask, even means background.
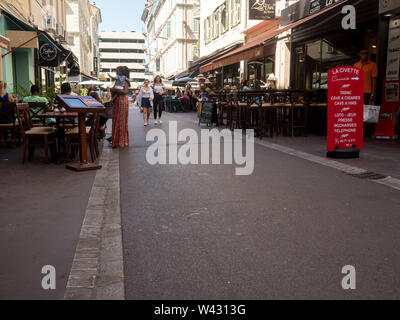
[[[12,50],[2,59],[1,76],[9,90],[26,92],[32,83],[54,86],[57,67],[65,57],[66,1],[8,0],[0,3],[0,9],[0,34],[9,38]],[[52,61],[41,55],[48,48]]]

